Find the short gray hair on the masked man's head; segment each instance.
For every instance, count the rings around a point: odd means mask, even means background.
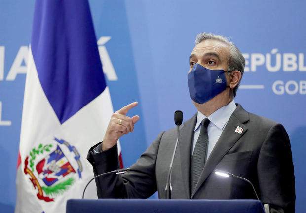
[[[236,47],[236,45],[233,42],[229,41],[229,39],[226,38],[225,36],[215,35],[212,33],[198,34],[195,38],[195,45],[201,43],[204,40],[209,40],[209,39],[220,41],[221,43],[224,43],[229,47],[228,68],[227,68],[228,70],[227,71],[228,73],[230,73],[230,71],[237,70],[241,72],[241,76],[242,76],[244,72],[245,59],[243,55],[241,54],[240,50]],[[240,85],[240,81],[238,85],[234,88],[234,97],[236,96],[238,87]]]

